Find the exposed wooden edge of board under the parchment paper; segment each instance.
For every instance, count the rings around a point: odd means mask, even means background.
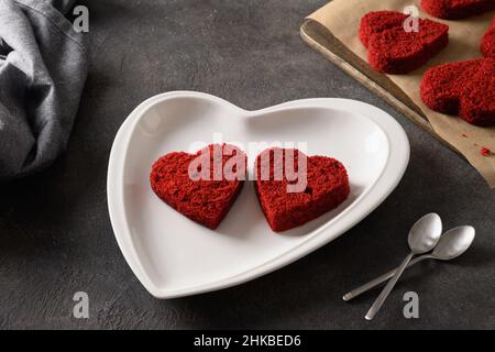
[[[367,63],[345,47],[324,26],[312,20],[307,20],[300,28],[300,35],[315,51],[321,53],[367,89],[399,110],[442,144],[463,156],[452,144],[435,132],[427,117],[421,112],[421,109],[402,89],[386,75],[371,68]]]

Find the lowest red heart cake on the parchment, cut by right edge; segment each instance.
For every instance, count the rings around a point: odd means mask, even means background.
[[[459,114],[471,124],[495,124],[495,59],[481,58],[430,68],[421,99],[430,109]]]

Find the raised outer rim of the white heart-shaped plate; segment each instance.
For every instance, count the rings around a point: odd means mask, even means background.
[[[134,243],[132,241],[132,235],[130,234],[129,227],[125,219],[124,201],[123,201],[123,173],[119,175],[119,164],[122,163],[122,167],[125,164],[125,155],[129,147],[129,142],[134,131],[134,128],[139,124],[139,121],[143,114],[151,109],[153,106],[158,105],[163,101],[174,99],[174,98],[198,98],[212,101],[215,103],[222,105],[230,109],[238,110],[245,116],[251,114],[263,114],[271,111],[279,111],[284,108],[297,107],[322,107],[341,109],[351,112],[356,112],[355,109],[360,110],[359,113],[377,124],[381,131],[386,135],[389,153],[382,174],[378,176],[374,185],[369,189],[369,191],[363,196],[363,199],[355,205],[353,211],[345,213],[342,219],[336,221],[333,231],[331,229],[324,228],[326,223],[320,228],[317,228],[312,232],[315,234],[307,241],[296,245],[292,250],[276,256],[267,262],[254,266],[243,273],[235,274],[233,276],[215,280],[207,284],[200,284],[197,286],[190,286],[180,289],[167,289],[157,287],[153,280],[147,275],[146,271],[141,263],[141,258],[138,255]],[[354,110],[354,111],[353,111]],[[366,113],[363,113],[364,110]],[[122,143],[123,148],[122,148]],[[123,121],[122,125],[116,135],[112,144],[112,148],[109,157],[108,176],[107,176],[107,199],[108,209],[110,215],[110,221],[112,224],[113,233],[118,245],[131,267],[134,275],[141,282],[141,284],[147,289],[147,292],[156,298],[169,299],[178,298],[184,296],[197,295],[207,292],[223,289],[227,287],[232,287],[235,285],[241,285],[249,280],[255,279],[260,276],[272,273],[280,267],[289,265],[295,261],[310,254],[317,249],[328,244],[329,242],[336,240],[341,234],[346,232],[349,229],[358,224],[365,217],[367,217],[373,210],[375,210],[397,187],[398,183],[403,178],[407,165],[409,163],[410,156],[410,145],[406,132],[400,127],[400,124],[386,111],[374,107],[372,105],[344,98],[309,98],[293,100],[284,102],[280,105],[267,107],[260,110],[245,110],[237,105],[224,100],[222,98],[198,92],[198,91],[168,91],[153,96],[142,103],[140,103]],[[374,198],[372,198],[374,197]],[[370,199],[372,198],[372,199]],[[349,208],[348,208],[349,209]],[[361,210],[361,211],[358,211]],[[327,233],[326,233],[327,232]]]

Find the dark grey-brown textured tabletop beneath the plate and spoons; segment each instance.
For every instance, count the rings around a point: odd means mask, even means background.
[[[299,38],[324,0],[87,1],[91,68],[67,152],[46,172],[0,185],[0,328],[419,329],[495,328],[495,201],[482,177]],[[310,97],[375,105],[397,119],[410,165],[392,196],[339,240],[242,286],[153,298],[127,265],[107,211],[113,138],[142,100],[169,90],[209,92],[246,109]],[[473,248],[452,263],[406,273],[373,322],[378,292],[341,295],[392,268],[406,237],[436,211],[447,228],[473,224]],[[73,317],[76,292],[89,319]],[[420,318],[403,316],[417,292]]]

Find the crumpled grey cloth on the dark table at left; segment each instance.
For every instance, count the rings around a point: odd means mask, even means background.
[[[75,0],[0,0],[0,182],[64,152],[88,73]]]

